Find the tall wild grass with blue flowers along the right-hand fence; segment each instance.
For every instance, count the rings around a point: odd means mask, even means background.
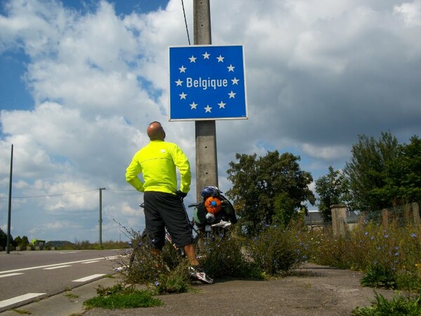
[[[335,237],[331,230],[303,234],[309,260],[366,273],[362,284],[421,292],[421,228],[360,223]],[[366,283],[364,283],[366,282]]]

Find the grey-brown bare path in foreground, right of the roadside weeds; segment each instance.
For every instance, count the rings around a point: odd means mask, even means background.
[[[103,310],[83,316],[102,315],[352,315],[357,306],[374,301],[373,289],[361,287],[359,272],[307,264],[293,276],[267,281],[217,279],[196,284],[198,291],[156,296],[164,305],[154,308]],[[392,298],[396,293],[376,289]]]

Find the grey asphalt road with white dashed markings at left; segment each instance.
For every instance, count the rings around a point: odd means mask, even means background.
[[[0,311],[53,296],[114,273],[122,250],[0,253]],[[19,305],[19,304],[18,304]]]

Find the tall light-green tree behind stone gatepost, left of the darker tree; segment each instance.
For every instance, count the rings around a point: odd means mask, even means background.
[[[385,186],[386,165],[398,152],[398,140],[390,132],[382,132],[378,140],[359,136],[344,169],[352,192],[351,209],[376,211],[390,206],[389,202],[379,199],[377,190]]]

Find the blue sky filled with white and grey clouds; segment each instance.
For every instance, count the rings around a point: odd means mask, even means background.
[[[102,240],[126,240],[118,223],[144,218],[124,175],[150,121],[195,171],[194,122],[168,121],[182,1],[0,4],[0,228],[13,144],[13,237],[98,241],[106,187]],[[236,152],[292,152],[316,180],[345,166],[359,134],[420,135],[421,0],[210,0],[210,18],[213,45],[243,46],[247,81],[248,119],[216,123],[222,191]],[[187,202],[195,192],[193,180]]]

